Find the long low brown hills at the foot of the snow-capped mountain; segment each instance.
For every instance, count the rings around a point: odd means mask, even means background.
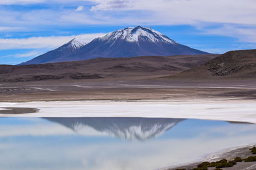
[[[218,55],[176,55],[170,57],[98,58],[26,66],[0,65],[0,81],[83,80],[164,76],[180,73]]]

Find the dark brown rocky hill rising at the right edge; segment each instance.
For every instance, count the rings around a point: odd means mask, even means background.
[[[205,64],[168,77],[191,80],[205,78],[255,78],[256,50],[230,51],[205,62]]]

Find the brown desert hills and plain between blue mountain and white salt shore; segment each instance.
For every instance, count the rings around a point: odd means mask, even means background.
[[[246,55],[247,53],[248,51]],[[243,69],[239,69],[236,74],[230,72],[225,76],[216,76],[215,73],[211,74],[209,69],[202,69],[209,63],[220,60],[221,56],[226,58],[226,55],[132,57],[28,66],[2,65],[0,66],[0,101],[207,99],[209,97],[255,99],[255,78],[241,76],[244,73]],[[217,58],[211,60],[214,57]],[[243,67],[247,66],[246,63],[244,65]],[[225,69],[226,67],[225,65]],[[229,69],[234,70],[233,67],[237,65],[230,65]],[[251,66],[250,69],[252,68]],[[245,73],[248,74],[248,69]],[[215,76],[212,76],[213,74]]]

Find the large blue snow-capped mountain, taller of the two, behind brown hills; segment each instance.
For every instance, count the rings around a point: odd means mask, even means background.
[[[75,40],[73,39],[70,42],[73,41]],[[109,32],[101,38],[93,39],[87,45],[74,43],[74,46],[79,48],[74,51],[68,50],[67,53],[58,53],[58,55],[55,53],[54,55],[45,55],[47,54],[45,53],[36,57],[36,62],[26,62],[25,64],[86,60],[98,57],[198,55],[206,53],[181,45],[150,27],[141,26]],[[42,57],[44,58],[43,62],[39,60]],[[35,59],[33,60],[35,61]]]

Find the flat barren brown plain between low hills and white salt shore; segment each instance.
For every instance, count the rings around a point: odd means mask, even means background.
[[[173,81],[155,78],[2,82],[0,102],[256,98],[256,80]]]

